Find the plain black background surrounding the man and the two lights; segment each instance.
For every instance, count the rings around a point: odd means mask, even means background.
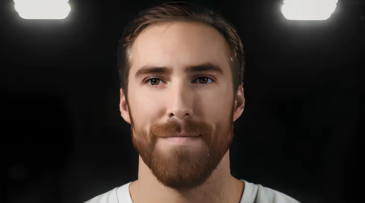
[[[126,23],[157,2],[70,0],[64,20],[25,20],[1,1],[1,202],[80,203],[137,179],[116,54]],[[360,201],[364,1],[310,22],[286,20],[282,0],[193,2],[244,45],[232,174],[303,203]]]

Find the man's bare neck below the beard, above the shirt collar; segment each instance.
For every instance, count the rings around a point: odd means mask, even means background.
[[[160,184],[139,156],[138,180],[129,186],[133,203],[239,203],[243,182],[231,175],[229,150],[207,181],[182,193]]]

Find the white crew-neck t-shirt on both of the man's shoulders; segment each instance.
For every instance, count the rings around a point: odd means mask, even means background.
[[[241,181],[244,182],[244,189],[240,203],[300,203],[283,193],[262,185],[249,183],[245,180]],[[133,203],[129,194],[130,183],[99,195],[85,203]]]

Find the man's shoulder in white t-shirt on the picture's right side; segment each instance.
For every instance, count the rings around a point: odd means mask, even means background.
[[[279,191],[244,181],[243,202],[250,203],[300,203]]]

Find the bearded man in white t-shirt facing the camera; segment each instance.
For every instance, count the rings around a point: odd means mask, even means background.
[[[244,58],[223,17],[184,2],[152,7],[124,29],[118,58],[138,180],[87,203],[298,203],[230,173]]]

